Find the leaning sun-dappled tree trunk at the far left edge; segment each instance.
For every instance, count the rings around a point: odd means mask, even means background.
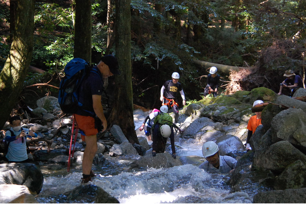
[[[0,127],[7,121],[17,103],[32,59],[34,33],[34,0],[17,0],[13,40],[0,73]],[[5,108],[4,108],[5,107]]]

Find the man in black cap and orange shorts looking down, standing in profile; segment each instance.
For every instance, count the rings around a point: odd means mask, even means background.
[[[88,183],[95,176],[92,172],[92,161],[97,152],[97,133],[98,129],[95,123],[102,121],[104,132],[107,128],[107,121],[103,113],[101,104],[101,95],[103,91],[103,78],[119,75],[118,61],[113,55],[106,55],[101,58],[98,65],[91,68],[90,73],[80,84],[79,98],[84,105],[78,109],[74,118],[76,125],[80,129],[82,140],[86,147],[82,161],[83,178],[82,183]]]

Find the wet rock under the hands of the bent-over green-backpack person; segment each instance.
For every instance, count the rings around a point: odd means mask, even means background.
[[[169,154],[168,152],[166,153],[158,153],[156,154],[156,157],[152,157],[152,151],[148,150],[146,154],[135,161],[133,163],[134,165],[138,167],[143,167],[143,168],[170,168],[173,166],[179,166],[182,165],[182,162],[177,158],[174,159],[172,158],[172,155]]]

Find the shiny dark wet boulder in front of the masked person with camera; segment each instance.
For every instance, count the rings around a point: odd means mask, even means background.
[[[43,174],[30,163],[1,164],[0,184],[25,185],[31,194],[39,194],[43,187]]]

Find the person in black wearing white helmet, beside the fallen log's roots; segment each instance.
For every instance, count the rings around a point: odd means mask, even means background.
[[[207,85],[204,90],[204,96],[211,94],[216,97],[218,93],[220,75],[217,74],[217,68],[211,67],[207,75]]]

